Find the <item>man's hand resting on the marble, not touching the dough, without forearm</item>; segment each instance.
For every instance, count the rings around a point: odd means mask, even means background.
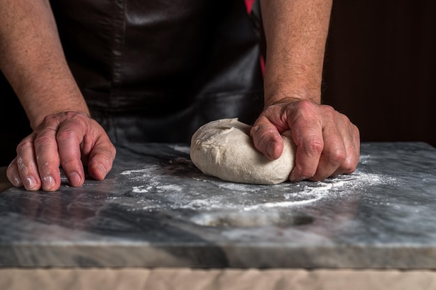
[[[14,186],[28,191],[56,191],[62,166],[72,186],[84,183],[84,165],[94,179],[104,179],[116,150],[104,129],[85,113],[48,115],[18,145],[17,157],[6,172]]]

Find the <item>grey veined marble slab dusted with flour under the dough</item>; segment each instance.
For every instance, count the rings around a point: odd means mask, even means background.
[[[119,147],[102,182],[3,191],[0,266],[436,268],[436,150],[364,143],[352,175],[259,186]]]

